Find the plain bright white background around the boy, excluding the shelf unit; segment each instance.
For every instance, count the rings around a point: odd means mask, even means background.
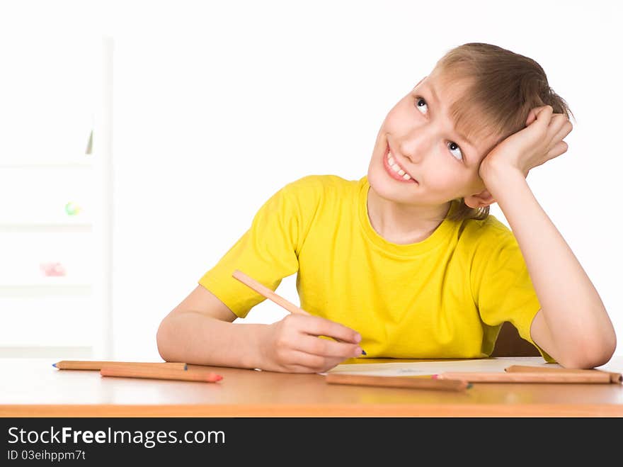
[[[283,185],[365,175],[389,109],[467,42],[533,58],[575,114],[568,152],[528,181],[620,339],[622,13],[616,1],[1,1],[0,47],[115,42],[115,359],[159,359],[160,320]],[[295,275],[277,292],[298,304]],[[265,300],[247,322],[284,314]]]

